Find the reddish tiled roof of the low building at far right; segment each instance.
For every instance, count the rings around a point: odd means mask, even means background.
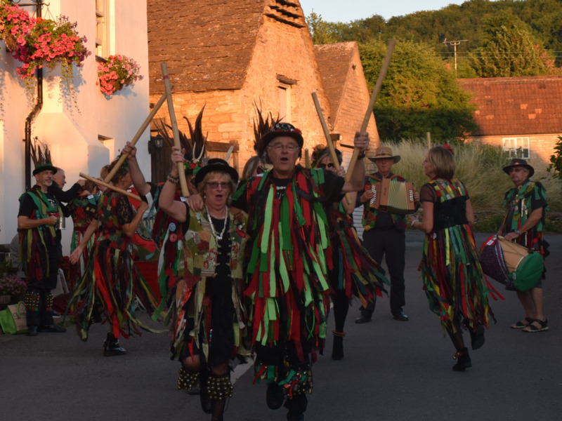
[[[459,81],[478,106],[474,135],[562,133],[562,76]]]

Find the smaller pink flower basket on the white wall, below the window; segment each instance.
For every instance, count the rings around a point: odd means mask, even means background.
[[[139,74],[141,67],[132,58],[125,55],[110,55],[107,62],[98,64],[100,91],[105,95],[113,95],[117,91],[136,81],[143,79]]]

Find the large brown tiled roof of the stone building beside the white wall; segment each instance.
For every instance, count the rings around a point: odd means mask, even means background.
[[[150,92],[164,89],[161,62],[174,92],[242,88],[264,16],[305,25],[298,0],[148,0]]]

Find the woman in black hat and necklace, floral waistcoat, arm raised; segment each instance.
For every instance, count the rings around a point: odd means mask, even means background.
[[[183,162],[179,147],[171,161]],[[222,159],[209,159],[195,175],[204,207],[195,212],[174,200],[178,166],[173,165],[159,197],[164,212],[183,225],[185,273],[172,303],[171,352],[180,359],[188,379],[201,383],[201,403],[211,420],[223,420],[226,399],[232,396],[230,358],[247,354],[246,315],[242,305],[242,257],[247,215],[230,208],[238,174]]]

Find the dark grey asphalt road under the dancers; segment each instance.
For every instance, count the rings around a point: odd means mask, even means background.
[[[479,234],[478,244],[485,238]],[[358,325],[354,303],[346,323],[345,358],[329,358],[329,335],[325,355],[313,367],[315,388],[306,420],[561,420],[562,236],[548,238],[544,308],[550,330],[509,328],[523,318],[522,307],[514,293],[492,281],[505,300],[492,302],[497,323],[486,333],[485,345],[471,352],[472,368],[462,373],[451,369],[454,349],[421,290],[421,241],[418,232],[407,233],[405,313],[410,321],[393,320],[383,298],[373,321]],[[106,332],[106,326],[94,325],[85,343],[73,326],[67,333],[34,338],[0,335],[0,420],[210,419],[197,396],[176,389],[179,364],[169,359],[166,333],[123,340],[129,353],[108,358],[101,345]],[[235,372],[241,377],[225,420],[285,420],[283,408],[267,408],[265,385],[252,385],[249,366]]]

